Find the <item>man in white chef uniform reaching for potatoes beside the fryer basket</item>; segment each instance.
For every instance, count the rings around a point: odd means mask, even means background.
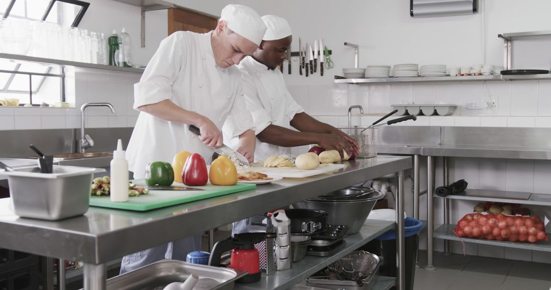
[[[319,144],[326,149],[336,149],[343,155],[358,144],[335,127],[317,121],[306,114],[287,90],[282,73],[276,69],[285,60],[293,36],[287,20],[276,15],[262,16],[268,27],[262,43],[251,56],[237,65],[243,74],[243,88],[247,108],[255,122],[255,160],[266,160],[272,155],[289,154],[290,148]],[[294,127],[296,130],[292,130]],[[231,126],[224,126],[225,138],[231,138]],[[226,137],[227,136],[227,137]],[[238,147],[237,138],[231,142]],[[255,221],[262,216],[252,217]],[[247,220],[234,223],[234,233],[246,231]]]

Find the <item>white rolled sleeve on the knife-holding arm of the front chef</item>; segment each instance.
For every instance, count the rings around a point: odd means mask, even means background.
[[[134,85],[135,110],[142,105],[172,99],[172,84],[186,65],[186,34],[176,32],[161,41],[142,78]]]

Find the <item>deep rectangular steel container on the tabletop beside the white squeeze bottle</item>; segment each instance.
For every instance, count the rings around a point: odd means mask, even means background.
[[[37,167],[3,171],[8,177],[14,213],[41,220],[61,220],[88,211],[94,173],[105,169],[53,166],[53,173]]]

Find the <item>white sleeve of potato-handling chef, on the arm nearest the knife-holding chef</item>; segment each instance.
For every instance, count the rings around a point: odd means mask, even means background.
[[[258,96],[258,88],[251,77],[244,74],[242,80],[245,104],[251,112],[252,120],[255,123],[255,135],[258,135],[272,124],[272,118],[270,118],[268,111],[264,109],[260,96]]]

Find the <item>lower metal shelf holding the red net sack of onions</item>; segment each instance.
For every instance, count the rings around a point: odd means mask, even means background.
[[[539,241],[536,243],[525,242],[507,242],[507,241],[490,241],[489,239],[476,238],[459,238],[453,232],[456,225],[444,224],[434,231],[434,237],[440,239],[450,239],[452,241],[463,241],[467,243],[487,244],[491,246],[500,246],[507,248],[516,248],[524,250],[537,250],[541,252],[551,252],[551,242]],[[548,234],[549,235],[549,234]]]

